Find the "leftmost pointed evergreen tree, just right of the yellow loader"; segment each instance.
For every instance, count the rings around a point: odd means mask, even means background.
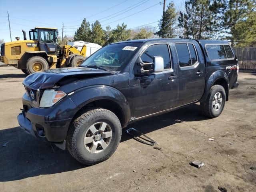
[[[91,30],[89,22],[86,22],[86,18],[81,23],[81,26],[76,30],[74,41],[86,41],[90,42],[91,40]]]

